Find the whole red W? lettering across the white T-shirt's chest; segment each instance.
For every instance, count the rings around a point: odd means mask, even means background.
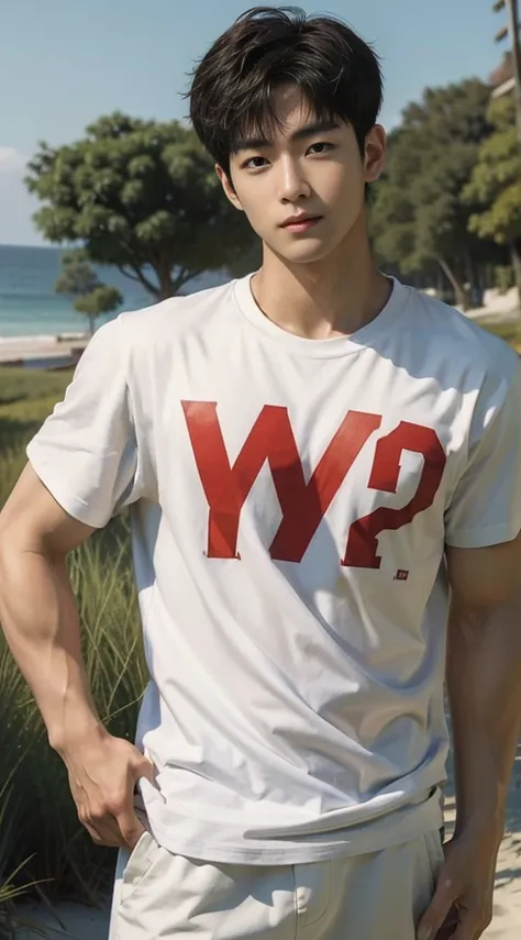
[[[282,520],[270,545],[276,561],[300,562],[355,458],[381,423],[380,414],[348,411],[306,483],[302,462],[286,408],[266,405],[231,465],[217,403],[182,401],[188,433],[210,508],[210,559],[236,559],[241,511],[267,461]],[[369,478],[372,489],[396,493],[403,450],[424,457],[418,491],[402,509],[381,508],[350,529],[344,565],[379,567],[377,535],[399,529],[431,506],[443,475],[445,454],[435,432],[419,424],[401,424],[376,447]]]

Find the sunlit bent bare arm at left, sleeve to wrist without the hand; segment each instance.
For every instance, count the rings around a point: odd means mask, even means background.
[[[56,750],[100,723],[66,568],[68,552],[92,531],[58,506],[30,465],[0,515],[0,619]]]

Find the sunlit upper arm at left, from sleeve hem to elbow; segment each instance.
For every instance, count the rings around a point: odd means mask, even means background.
[[[66,555],[95,531],[66,512],[30,463],[0,513],[0,539],[27,551]]]

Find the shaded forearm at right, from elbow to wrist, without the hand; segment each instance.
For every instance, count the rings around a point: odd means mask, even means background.
[[[521,617],[517,602],[489,611],[453,606],[447,690],[456,776],[456,834],[499,841],[521,727]]]

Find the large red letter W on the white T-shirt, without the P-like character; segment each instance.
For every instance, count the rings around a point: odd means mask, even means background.
[[[210,559],[237,556],[241,510],[267,461],[282,511],[270,555],[278,561],[300,562],[355,457],[381,421],[379,414],[348,411],[306,483],[286,408],[273,405],[263,408],[231,466],[217,403],[182,401],[181,405],[210,507]]]

